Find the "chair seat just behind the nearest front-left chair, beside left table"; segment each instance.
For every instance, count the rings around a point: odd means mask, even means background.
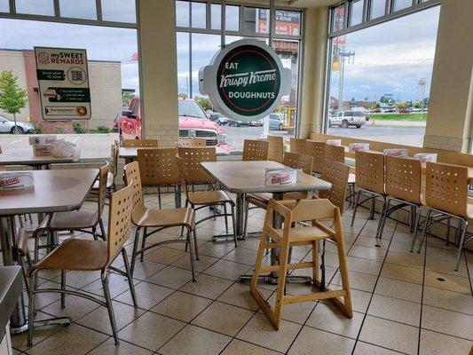
[[[99,223],[96,210],[79,209],[67,212],[56,212],[43,219],[40,229],[68,231],[91,228]]]

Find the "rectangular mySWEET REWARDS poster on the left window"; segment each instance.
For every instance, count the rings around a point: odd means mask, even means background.
[[[88,120],[91,89],[85,50],[35,47],[43,120]]]

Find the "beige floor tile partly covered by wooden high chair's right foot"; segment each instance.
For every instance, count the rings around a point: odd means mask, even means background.
[[[306,325],[356,339],[362,321],[362,313],[353,312],[353,318],[349,319],[334,305],[319,303]]]

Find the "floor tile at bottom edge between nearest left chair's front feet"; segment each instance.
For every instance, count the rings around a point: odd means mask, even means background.
[[[86,354],[108,336],[86,327],[71,324],[58,333],[28,350],[30,355],[79,355]]]

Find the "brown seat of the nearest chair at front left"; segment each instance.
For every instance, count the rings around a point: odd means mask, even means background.
[[[106,253],[106,241],[70,238],[34,264],[28,273],[35,269],[99,271],[106,266]]]

